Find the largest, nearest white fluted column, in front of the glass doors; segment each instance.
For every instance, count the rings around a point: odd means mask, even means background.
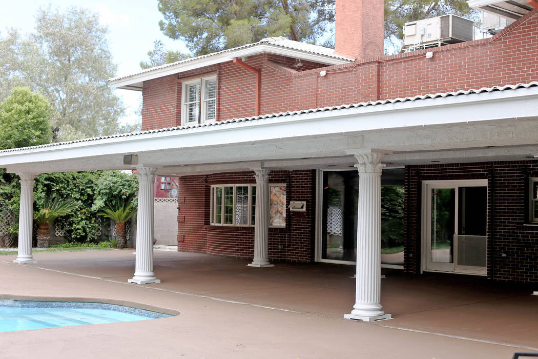
[[[391,318],[381,306],[381,160],[385,153],[356,152],[359,198],[357,207],[357,276],[355,305],[344,318],[374,321]]]

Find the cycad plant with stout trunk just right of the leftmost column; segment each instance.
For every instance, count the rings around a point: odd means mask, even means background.
[[[61,199],[55,195],[45,196],[43,207],[34,213],[34,220],[38,224],[37,247],[47,248],[49,233],[48,225],[60,216],[73,213],[77,203],[72,199]]]

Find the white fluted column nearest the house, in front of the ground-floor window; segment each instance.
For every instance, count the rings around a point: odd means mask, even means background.
[[[253,170],[256,177],[256,213],[254,214],[254,259],[251,267],[272,267],[269,263],[269,173]]]

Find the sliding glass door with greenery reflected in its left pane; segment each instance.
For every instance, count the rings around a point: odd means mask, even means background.
[[[486,273],[487,181],[423,182],[424,269]]]

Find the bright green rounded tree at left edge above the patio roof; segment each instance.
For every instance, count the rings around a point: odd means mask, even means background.
[[[52,109],[47,99],[27,87],[16,87],[0,104],[0,149],[52,141]]]

